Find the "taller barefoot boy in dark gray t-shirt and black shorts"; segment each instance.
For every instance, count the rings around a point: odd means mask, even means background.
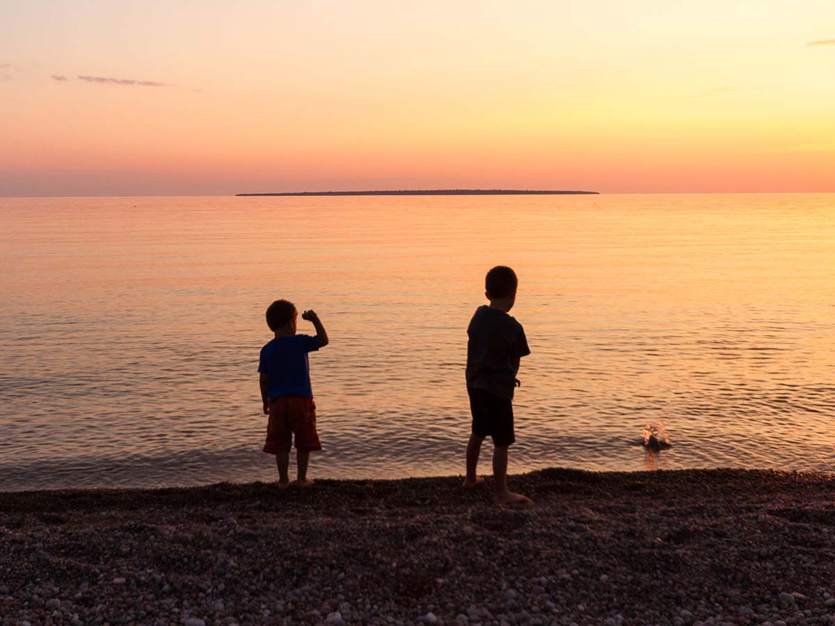
[[[530,354],[524,329],[508,315],[519,281],[509,267],[498,265],[485,279],[489,305],[476,309],[467,335],[467,391],[473,413],[473,434],[467,444],[464,487],[483,478],[476,473],[484,437],[493,437],[493,500],[497,504],[531,502],[508,489],[508,447],[514,436],[514,387],[519,385],[519,359]]]

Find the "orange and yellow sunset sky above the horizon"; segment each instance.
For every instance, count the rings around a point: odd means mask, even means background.
[[[5,196],[835,191],[835,2],[3,2],[0,148]]]

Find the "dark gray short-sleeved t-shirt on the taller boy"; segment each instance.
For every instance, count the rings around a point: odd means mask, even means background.
[[[530,354],[522,325],[504,310],[482,305],[467,335],[467,386],[512,400],[519,359]]]

